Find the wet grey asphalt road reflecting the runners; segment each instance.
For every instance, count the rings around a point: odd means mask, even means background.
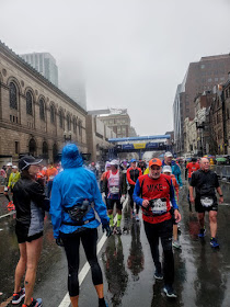
[[[142,221],[130,217],[128,207],[124,209],[125,232],[107,239],[99,254],[104,275],[105,297],[110,307],[228,307],[230,306],[230,184],[222,184],[225,204],[219,206],[218,240],[219,250],[209,245],[209,227],[206,218],[207,236],[198,239],[196,214],[188,212],[186,187],[180,193],[183,219],[180,241],[182,250],[174,250],[175,284],[177,299],[168,299],[162,292],[163,283],[156,282],[154,266]],[[0,216],[8,213],[4,197],[0,197]],[[14,215],[0,218],[0,302],[3,306],[13,291],[14,269],[19,260],[18,242],[14,235]],[[101,229],[99,230],[101,238]],[[81,268],[85,257],[81,249]],[[39,262],[34,297],[42,297],[45,307],[58,307],[67,293],[67,262],[64,250],[53,239],[48,216],[45,221],[44,249]],[[88,273],[81,285],[80,307],[96,307],[97,298]]]

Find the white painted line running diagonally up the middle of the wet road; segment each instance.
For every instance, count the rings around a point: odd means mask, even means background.
[[[127,202],[128,202],[128,197],[126,197],[126,202],[124,203],[124,208],[125,208]],[[115,218],[114,218],[114,223],[115,223],[115,224],[116,224],[116,221],[117,221],[117,215],[116,215]],[[97,246],[96,246],[96,250],[97,250],[96,254],[100,253],[100,251],[101,251],[101,249],[103,248],[103,246],[104,246],[104,243],[105,243],[106,240],[107,240],[107,237],[106,237],[106,235],[104,234],[104,235],[102,236],[102,238],[100,239]],[[89,262],[87,261],[87,262],[84,263],[84,266],[81,269],[80,274],[79,274],[79,286],[83,283],[83,281],[84,281],[84,278],[85,278],[85,276],[87,276],[87,274],[88,274],[89,271],[90,271],[90,264],[89,264]],[[71,304],[71,302],[70,302],[70,298],[69,298],[69,293],[67,293],[58,307],[69,307],[70,304]]]

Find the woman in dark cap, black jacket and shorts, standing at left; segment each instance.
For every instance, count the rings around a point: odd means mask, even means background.
[[[32,156],[24,156],[19,161],[21,179],[13,187],[13,203],[16,209],[15,232],[20,248],[20,260],[15,269],[14,294],[12,304],[19,304],[24,297],[22,307],[41,307],[42,299],[33,298],[36,270],[43,246],[43,229],[46,200],[44,189],[35,181],[38,163]],[[25,274],[24,288],[21,287]]]

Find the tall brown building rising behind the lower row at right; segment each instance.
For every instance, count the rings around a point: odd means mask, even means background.
[[[194,100],[216,84],[225,83],[230,71],[230,54],[202,57],[191,62],[184,80],[177,86],[173,104],[175,151],[184,152],[184,120],[195,116]]]

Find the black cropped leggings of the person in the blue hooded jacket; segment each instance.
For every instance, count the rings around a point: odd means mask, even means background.
[[[82,242],[87,260],[91,266],[92,280],[94,285],[103,284],[102,271],[96,258],[97,229],[87,229],[81,232],[65,235],[61,234],[64,247],[68,261],[68,291],[70,296],[79,295],[79,246]]]

